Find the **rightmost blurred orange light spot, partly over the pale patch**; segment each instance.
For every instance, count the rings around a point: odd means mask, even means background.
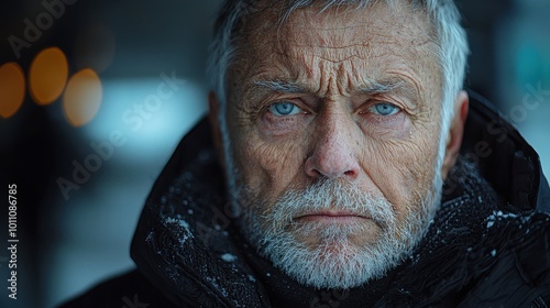
[[[74,127],[90,122],[99,111],[102,86],[99,76],[85,68],[70,77],[63,97],[63,111]]]

